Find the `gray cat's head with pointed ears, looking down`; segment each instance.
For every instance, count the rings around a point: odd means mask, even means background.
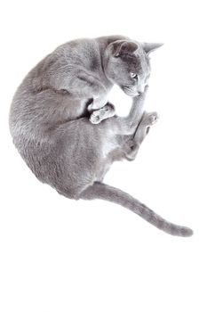
[[[151,71],[148,55],[161,45],[131,40],[117,40],[107,45],[107,78],[127,95],[142,93]]]

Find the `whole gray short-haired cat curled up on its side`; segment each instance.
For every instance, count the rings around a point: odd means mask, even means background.
[[[169,223],[129,194],[102,183],[115,160],[134,160],[157,119],[156,113],[143,113],[143,103],[148,53],[159,46],[121,36],[61,45],[18,88],[10,129],[28,167],[60,194],[113,201],[168,234],[190,236],[191,229]],[[128,117],[115,116],[114,106],[107,103],[114,84],[132,97]]]

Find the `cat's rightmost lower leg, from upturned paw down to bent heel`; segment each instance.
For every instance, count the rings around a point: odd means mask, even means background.
[[[125,154],[125,157],[127,160],[134,160],[137,156],[137,153],[139,151],[140,144],[144,141],[146,135],[149,132],[149,129],[151,126],[155,124],[155,122],[158,119],[158,114],[154,112],[144,112],[142,119],[132,136],[132,138],[127,142],[128,145],[128,151]]]

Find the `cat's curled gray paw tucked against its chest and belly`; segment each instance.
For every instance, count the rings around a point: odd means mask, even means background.
[[[90,116],[92,124],[99,124],[102,120],[115,116],[115,106],[107,103],[100,110],[93,111]]]

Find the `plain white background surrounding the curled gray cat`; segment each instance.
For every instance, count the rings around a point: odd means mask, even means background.
[[[1,4],[1,312],[206,312],[205,1],[5,1]],[[173,237],[105,201],[69,201],[42,185],[12,145],[20,81],[57,45],[123,34],[163,42],[152,54],[147,111],[160,120],[137,160],[106,182],[164,218]],[[115,88],[119,113],[130,99]]]

